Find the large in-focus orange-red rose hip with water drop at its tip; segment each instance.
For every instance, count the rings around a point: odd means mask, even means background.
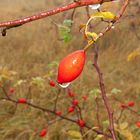
[[[78,50],[64,57],[58,66],[58,83],[68,83],[76,79],[83,70],[85,57],[85,50]]]

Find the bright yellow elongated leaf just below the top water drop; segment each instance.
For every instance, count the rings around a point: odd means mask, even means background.
[[[115,18],[115,15],[111,12],[96,12],[96,13],[92,14],[91,17],[113,19],[113,18]]]

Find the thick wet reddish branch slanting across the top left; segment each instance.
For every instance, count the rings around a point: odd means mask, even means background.
[[[115,0],[75,0],[74,2],[71,2],[71,3],[66,4],[64,6],[55,7],[51,10],[37,13],[37,14],[34,14],[32,16],[23,17],[23,18],[20,18],[17,20],[0,22],[0,27],[13,28],[13,27],[17,27],[17,26],[23,25],[23,24],[28,23],[28,22],[39,20],[39,19],[42,19],[42,18],[45,18],[48,16],[55,15],[57,13],[63,12],[63,11],[77,8],[77,7],[87,6],[87,5],[91,5],[91,4],[104,3],[104,2],[109,2],[109,1],[115,1]]]

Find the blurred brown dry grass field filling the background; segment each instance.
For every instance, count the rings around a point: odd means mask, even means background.
[[[69,0],[1,0],[0,2],[0,21],[6,21],[51,9],[67,3]],[[119,7],[120,5],[117,3],[104,5],[104,9],[113,9],[114,14],[117,13],[116,11]],[[116,24],[115,29],[105,34],[97,42],[100,49],[99,63],[104,74],[107,94],[110,95],[112,89],[118,89],[121,92],[114,94],[113,97],[118,98],[122,102],[134,100],[136,103],[134,109],[138,111],[140,106],[139,9],[139,0],[131,1],[124,17]],[[90,12],[92,13],[93,11],[90,10]],[[86,40],[79,32],[79,25],[87,21],[85,8],[76,10],[70,31],[71,41],[63,41],[60,38],[58,25],[63,25],[65,19],[70,19],[71,13],[72,10],[59,13],[19,28],[13,28],[7,32],[6,37],[0,36],[0,71],[3,69],[8,71],[7,69],[9,69],[17,73],[15,79],[26,81],[31,80],[32,77],[43,77],[46,75],[56,79],[59,60],[68,53],[82,49],[86,45]],[[102,26],[93,26],[92,30],[99,31]],[[134,54],[135,51],[137,55]],[[82,95],[93,94],[95,89],[98,88],[98,77],[92,63],[93,50],[91,49],[87,54],[86,66],[82,75],[71,85],[72,91],[75,92],[79,100],[82,100]],[[35,80],[38,79],[34,79],[34,82]],[[12,96],[14,98],[27,96],[29,99],[33,99],[35,104],[51,108],[51,100],[53,101],[53,96],[58,91],[50,88],[46,81],[44,82],[45,87],[43,90],[42,88],[33,87],[30,94],[28,94],[29,85],[25,82],[16,89],[15,95]],[[61,94],[63,99],[66,96],[65,92],[62,90]],[[112,107],[115,109],[114,116],[117,117],[120,107],[119,103],[113,100],[113,97],[109,96]],[[62,99],[59,107],[61,110],[65,110],[63,104],[69,101]],[[87,122],[96,125],[94,104],[94,98],[90,95],[89,100],[86,102],[86,108],[89,111],[84,111],[83,114]],[[103,114],[103,108],[103,104],[100,103],[101,114]],[[104,116],[101,116],[102,123],[105,123],[105,117],[106,113]],[[14,104],[0,101],[0,139],[35,140],[36,138],[37,140],[35,132],[45,127],[47,120],[50,119],[52,118],[48,114],[28,108],[26,105],[17,106],[15,111]],[[128,126],[126,126],[127,130],[129,134],[131,132],[134,140],[140,139],[140,130],[135,126],[135,121],[138,119],[140,118],[135,114],[126,111],[120,121],[121,124],[128,123]],[[76,128],[74,125],[66,123],[66,121],[58,121],[49,128],[46,139],[70,139],[67,135],[67,129],[73,130]]]

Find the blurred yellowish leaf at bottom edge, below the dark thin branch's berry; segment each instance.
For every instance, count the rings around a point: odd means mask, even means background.
[[[76,130],[68,130],[67,134],[71,137],[71,138],[76,138],[76,139],[81,139],[82,135],[79,131]]]

